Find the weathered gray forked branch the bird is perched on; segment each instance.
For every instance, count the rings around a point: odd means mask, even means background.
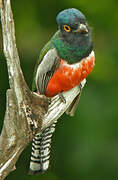
[[[10,0],[0,0],[3,49],[7,61],[10,89],[6,93],[6,113],[0,135],[0,179],[15,170],[19,155],[33,139],[58,119],[79,94],[79,87],[63,93],[66,103],[29,90],[20,67]],[[83,86],[85,80],[83,81]]]

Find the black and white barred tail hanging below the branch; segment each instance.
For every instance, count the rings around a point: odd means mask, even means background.
[[[32,142],[29,174],[44,173],[49,167],[51,137],[55,131],[55,121],[42,133],[36,134]]]

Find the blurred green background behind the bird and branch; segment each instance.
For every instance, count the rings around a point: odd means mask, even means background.
[[[63,115],[57,124],[49,171],[27,175],[30,144],[7,180],[118,179],[118,1],[12,1],[22,70],[31,87],[40,49],[57,30],[56,15],[70,7],[81,10],[92,27],[96,66],[87,78],[75,116]],[[0,49],[0,119],[3,120],[9,85],[2,45]]]

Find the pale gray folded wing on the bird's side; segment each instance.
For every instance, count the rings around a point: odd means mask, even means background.
[[[60,64],[60,58],[55,48],[50,49],[43,57],[36,71],[36,87],[40,94],[44,94],[48,82]]]

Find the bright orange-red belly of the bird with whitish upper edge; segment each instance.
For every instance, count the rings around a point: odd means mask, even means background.
[[[60,66],[50,79],[45,95],[53,97],[62,91],[68,91],[79,85],[79,83],[91,73],[94,67],[94,53],[82,59],[76,64],[67,64],[61,60]]]

